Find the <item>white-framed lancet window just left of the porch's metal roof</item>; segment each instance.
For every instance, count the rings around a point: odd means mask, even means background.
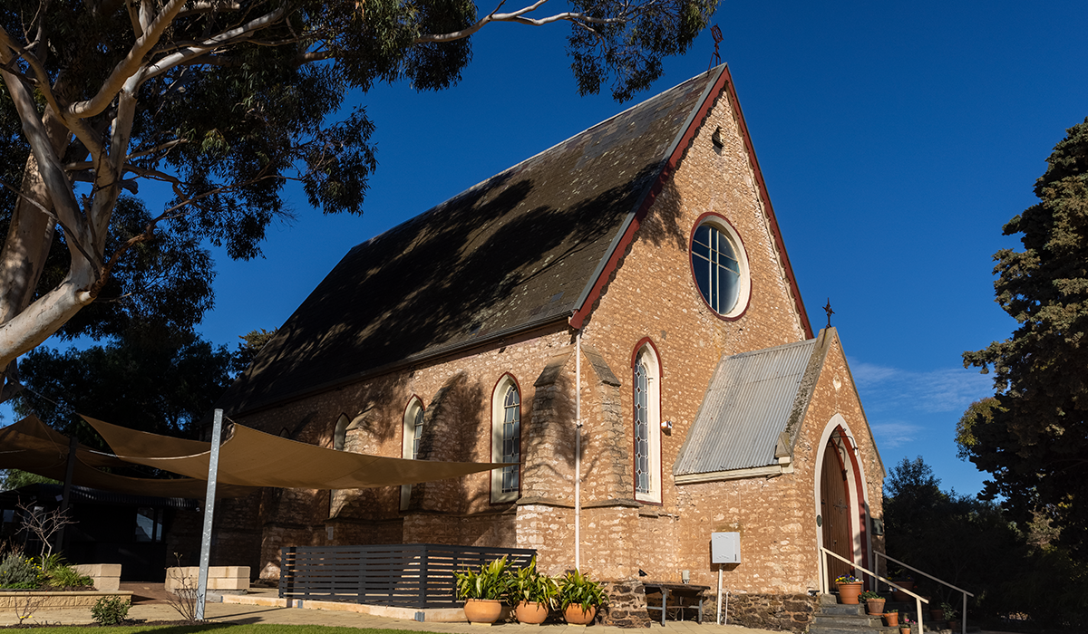
[[[639,478],[639,438],[638,421],[639,415],[639,386],[636,371],[639,365],[644,365],[646,370],[646,432],[647,432],[647,486],[640,490]],[[662,363],[657,358],[657,350],[647,340],[634,355],[634,362],[631,364],[631,440],[632,440],[632,468],[634,476],[634,499],[642,502],[662,502]]]

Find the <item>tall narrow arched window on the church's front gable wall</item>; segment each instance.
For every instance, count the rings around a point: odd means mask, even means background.
[[[640,341],[633,373],[634,499],[662,501],[662,372],[650,339]]]

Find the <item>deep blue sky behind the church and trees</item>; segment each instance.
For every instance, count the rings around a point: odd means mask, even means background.
[[[830,298],[885,464],[922,456],[945,487],[978,492],[953,435],[991,387],[961,353],[1015,325],[993,302],[991,257],[1018,246],[1002,225],[1088,115],[1088,2],[724,3],[713,23],[809,318],[826,324]],[[233,347],[279,326],[351,246],[630,105],[578,97],[566,33],[493,24],[457,87],[358,96],[378,127],[363,215],[295,196],[263,259],[217,252],[202,334]],[[635,101],[706,71],[713,51],[706,33]]]

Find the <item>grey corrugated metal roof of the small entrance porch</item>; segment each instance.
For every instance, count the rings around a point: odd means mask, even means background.
[[[672,474],[772,467],[791,456],[827,357],[827,335],[722,357]]]

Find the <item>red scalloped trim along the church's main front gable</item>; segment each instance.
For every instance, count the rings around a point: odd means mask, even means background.
[[[650,208],[657,199],[657,195],[662,192],[662,189],[665,187],[665,183],[672,176],[677,165],[680,163],[680,159],[682,159],[684,153],[688,151],[688,146],[691,145],[692,139],[695,137],[695,133],[703,126],[703,122],[709,114],[710,108],[721,95],[722,90],[729,90],[730,102],[732,103],[733,112],[737,114],[738,127],[740,127],[741,137],[744,139],[744,148],[747,150],[749,160],[752,164],[752,172],[755,174],[756,184],[759,186],[759,196],[763,198],[767,208],[767,216],[770,221],[770,231],[775,238],[775,245],[778,247],[778,252],[782,258],[782,268],[786,270],[786,276],[790,281],[790,288],[793,291],[794,303],[798,308],[798,313],[801,316],[801,325],[804,327],[807,338],[813,338],[813,328],[808,322],[808,313],[805,312],[805,306],[801,299],[801,290],[798,288],[796,276],[794,276],[793,268],[790,265],[790,258],[786,253],[786,245],[782,243],[781,231],[778,227],[778,220],[775,217],[775,209],[770,204],[770,196],[767,195],[767,185],[764,183],[763,172],[759,170],[759,161],[755,158],[755,148],[752,145],[752,137],[749,135],[747,125],[744,123],[744,114],[741,112],[741,104],[737,99],[737,90],[733,87],[733,78],[732,75],[729,74],[728,65],[722,65],[721,73],[718,75],[717,79],[715,79],[713,88],[707,92],[706,99],[700,105],[695,116],[692,117],[691,124],[689,124],[688,129],[684,130],[683,136],[676,146],[676,149],[672,150],[672,154],[665,162],[660,174],[658,174],[657,179],[650,188],[646,197],[642,200],[642,204],[639,207],[639,210],[635,211],[634,219],[632,219],[631,224],[627,227],[627,231],[623,233],[619,243],[617,243],[615,250],[613,250],[611,254],[609,254],[607,263],[604,269],[601,270],[601,274],[597,276],[596,281],[593,282],[593,288],[585,297],[585,301],[574,311],[574,314],[570,316],[570,325],[574,330],[581,330],[581,327],[585,324],[585,320],[593,311],[593,306],[604,294],[604,288],[608,284],[608,279],[611,278],[616,270],[619,269],[619,261],[623,257],[623,253],[627,252],[628,247],[631,246],[635,232],[639,231],[639,226],[642,224],[642,221],[646,217],[646,213],[650,211]]]

